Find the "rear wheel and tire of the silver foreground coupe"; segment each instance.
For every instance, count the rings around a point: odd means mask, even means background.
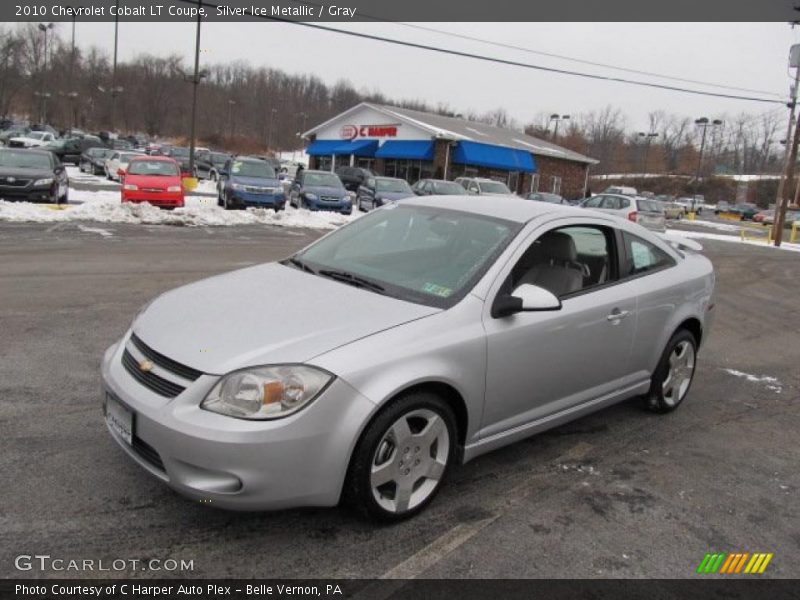
[[[677,331],[667,343],[647,393],[647,408],[672,412],[689,393],[697,364],[697,340],[686,329]]]

